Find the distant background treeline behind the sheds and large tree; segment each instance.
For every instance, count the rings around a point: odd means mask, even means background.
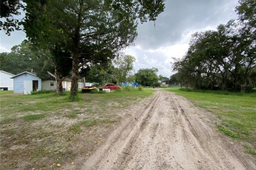
[[[57,62],[61,63],[62,67],[59,66],[60,64],[55,64]],[[142,86],[153,86],[158,82],[157,68],[140,69],[135,73],[134,62],[134,56],[119,53],[111,61],[91,63],[81,67],[78,79],[79,82],[82,82],[85,77],[86,82],[97,82],[102,85],[108,82],[121,84],[125,81],[136,81]],[[0,53],[0,63],[0,70],[12,74],[33,71],[42,80],[52,80],[53,77],[48,72],[56,73],[57,69],[61,78],[70,78],[72,73],[71,61],[63,61],[63,56],[60,56],[57,61],[50,50],[38,49],[29,41],[22,41],[21,44],[13,46],[10,53]],[[163,78],[165,77],[159,76],[159,80]]]

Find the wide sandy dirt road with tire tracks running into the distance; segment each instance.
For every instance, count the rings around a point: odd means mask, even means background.
[[[110,134],[81,169],[256,169],[211,113],[158,90]]]

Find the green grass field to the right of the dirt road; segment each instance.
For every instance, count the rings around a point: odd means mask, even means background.
[[[241,141],[250,154],[256,156],[256,94],[241,92],[186,90],[169,88],[218,115],[218,130]]]

